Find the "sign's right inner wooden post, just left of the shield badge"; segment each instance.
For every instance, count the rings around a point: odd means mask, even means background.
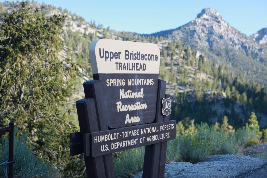
[[[156,117],[154,122],[162,122],[163,115],[162,112],[162,98],[165,97],[166,82],[159,80],[158,83],[158,96],[157,96],[157,106],[156,106]],[[144,168],[143,168],[143,178],[154,178],[158,177],[159,168],[159,153],[160,153],[161,143],[148,145],[145,148],[144,156]]]

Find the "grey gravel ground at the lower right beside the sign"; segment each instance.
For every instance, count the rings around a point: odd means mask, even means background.
[[[244,155],[212,155],[206,161],[192,164],[188,162],[174,162],[166,164],[165,177],[191,177],[191,178],[211,178],[211,177],[240,177],[240,175],[253,172],[265,167],[267,160],[262,160]],[[263,177],[267,177],[264,173]],[[243,176],[242,176],[243,177]],[[244,176],[245,177],[245,176]],[[258,176],[260,178],[261,176]],[[133,178],[142,178],[139,172]]]

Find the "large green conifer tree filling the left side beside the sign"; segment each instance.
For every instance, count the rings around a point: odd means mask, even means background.
[[[47,21],[22,2],[3,14],[0,31],[0,127],[13,120],[19,132],[28,131],[36,155],[61,165],[69,161],[74,128],[64,108],[77,76],[76,64],[57,58],[64,18]]]

